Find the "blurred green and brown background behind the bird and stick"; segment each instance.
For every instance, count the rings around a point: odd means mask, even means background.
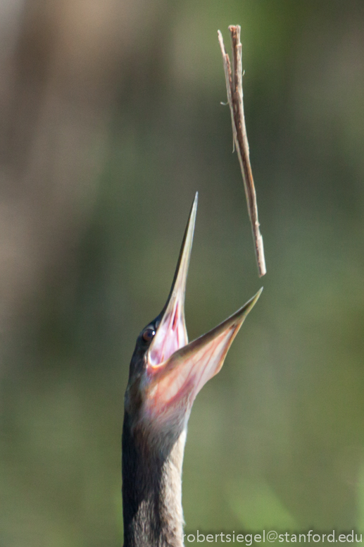
[[[2,0],[0,44],[0,547],[122,543],[128,366],[196,190],[189,337],[264,292],[194,404],[187,530],[364,531],[363,2]]]

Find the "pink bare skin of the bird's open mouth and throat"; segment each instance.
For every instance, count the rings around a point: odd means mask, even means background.
[[[158,326],[147,358],[145,410],[156,421],[192,406],[197,393],[220,371],[245,316],[227,319],[188,344],[178,298],[171,307],[172,313],[167,309]]]

